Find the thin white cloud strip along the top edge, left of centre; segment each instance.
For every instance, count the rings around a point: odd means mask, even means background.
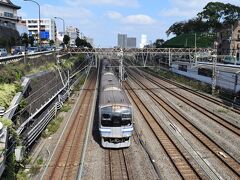
[[[81,4],[90,5],[111,5],[122,7],[139,7],[138,0],[65,0],[69,5],[76,6]]]

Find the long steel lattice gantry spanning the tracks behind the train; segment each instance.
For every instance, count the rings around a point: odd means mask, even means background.
[[[127,59],[131,59],[133,64],[140,60],[142,62],[141,66],[146,67],[147,62],[148,64],[154,64],[154,57],[167,60],[169,66],[173,61],[195,64],[202,58],[211,59],[214,51],[210,48],[67,48],[62,50],[62,53],[92,54],[95,57],[111,56],[114,59],[119,59],[119,57],[125,57],[126,59],[127,57]]]

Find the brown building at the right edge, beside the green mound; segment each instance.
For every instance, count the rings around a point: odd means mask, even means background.
[[[231,55],[239,59],[240,52],[240,21],[234,26],[225,28],[218,33],[218,54]]]

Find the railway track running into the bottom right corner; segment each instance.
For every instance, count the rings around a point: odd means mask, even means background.
[[[141,88],[145,89],[148,95],[154,99],[154,101],[157,102],[161,108],[165,109],[168,112],[169,116],[174,119],[174,121],[179,122],[187,131],[189,131],[195,138],[197,138],[207,149],[209,149],[219,160],[221,160],[222,165],[226,166],[229,171],[236,175],[236,177],[240,177],[240,164],[233,157],[231,157],[218,144],[211,140],[207,134],[201,131],[198,127],[191,124],[190,121],[188,121],[188,119],[179,113],[173,106],[171,106],[165,100],[161,99],[156,92],[154,92],[152,89],[148,89],[147,86],[140,83],[137,79],[140,78],[133,77],[133,80]]]

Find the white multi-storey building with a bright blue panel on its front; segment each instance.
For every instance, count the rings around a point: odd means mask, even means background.
[[[38,19],[23,19],[21,23],[27,26],[29,36],[34,35],[36,38],[38,37]],[[54,19],[46,18],[40,20],[40,36],[42,41],[44,40],[53,40],[57,39],[57,28]]]

